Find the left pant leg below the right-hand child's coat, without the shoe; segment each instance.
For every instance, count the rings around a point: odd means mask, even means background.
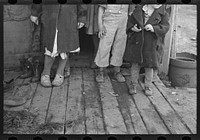
[[[132,63],[131,65],[131,81],[134,85],[138,84],[140,72],[140,65],[137,63]]]

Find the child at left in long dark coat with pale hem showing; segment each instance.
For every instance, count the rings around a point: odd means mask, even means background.
[[[38,24],[38,17],[41,16],[45,48],[42,86],[60,86],[64,82],[64,68],[69,61],[69,53],[79,46],[78,28],[86,22],[86,10],[84,5],[33,5],[31,20]],[[51,82],[50,70],[56,56],[59,57],[59,64]]]

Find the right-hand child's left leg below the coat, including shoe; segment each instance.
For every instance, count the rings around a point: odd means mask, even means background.
[[[140,65],[137,63],[132,63],[130,71],[131,71],[131,84],[128,86],[129,93],[135,94],[137,92],[136,86],[138,84],[138,79],[139,79]]]

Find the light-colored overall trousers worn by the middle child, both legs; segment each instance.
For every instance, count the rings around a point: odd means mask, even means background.
[[[112,48],[112,57],[110,64],[113,66],[121,66],[123,63],[123,55],[126,47],[126,26],[127,14],[110,14],[104,17],[103,24],[107,33],[100,38],[99,48],[94,62],[98,67],[109,66],[110,51]]]

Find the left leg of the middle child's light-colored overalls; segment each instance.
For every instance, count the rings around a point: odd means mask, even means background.
[[[109,66],[110,50],[117,30],[117,22],[113,17],[106,17],[103,24],[106,27],[107,33],[100,38],[99,48],[94,60],[98,67]]]

